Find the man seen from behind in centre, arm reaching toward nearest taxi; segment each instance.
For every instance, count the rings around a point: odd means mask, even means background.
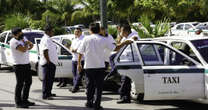
[[[94,110],[102,110],[100,106],[104,71],[105,71],[105,53],[103,50],[108,49],[110,51],[119,50],[122,46],[132,43],[127,40],[121,45],[116,46],[114,43],[109,42],[106,38],[99,35],[100,26],[92,23],[90,24],[91,35],[85,37],[81,46],[78,48],[78,71],[82,71],[81,58],[85,55],[84,69],[87,77],[87,103],[86,107]],[[96,96],[94,98],[96,90]]]

